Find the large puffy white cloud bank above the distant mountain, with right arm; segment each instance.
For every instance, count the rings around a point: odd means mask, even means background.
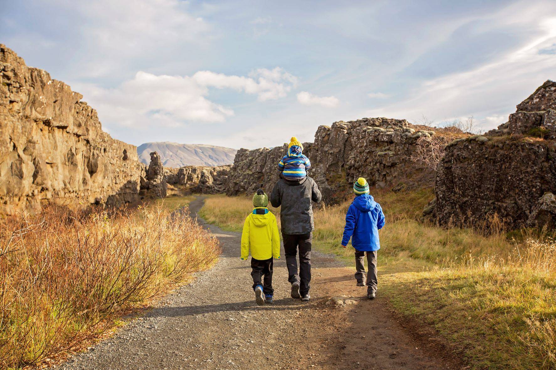
[[[264,101],[285,97],[295,80],[281,68],[258,69],[250,75],[256,79],[210,71],[200,71],[191,77],[140,71],[114,89],[90,84],[73,84],[73,88],[82,92],[101,120],[108,123],[177,126],[186,121],[222,122],[234,115],[234,110],[207,99],[210,87],[257,94]]]

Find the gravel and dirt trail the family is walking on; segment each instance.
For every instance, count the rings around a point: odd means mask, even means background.
[[[192,214],[201,206],[202,198],[191,202]],[[391,317],[380,299],[380,280],[379,298],[366,300],[353,269],[331,256],[312,254],[309,303],[290,298],[285,261],[275,261],[275,303],[257,306],[249,262],[239,258],[240,234],[204,226],[222,243],[222,256],[211,270],[59,368],[450,368],[440,355],[423,351],[409,329]],[[326,304],[331,295],[361,300],[336,307]]]

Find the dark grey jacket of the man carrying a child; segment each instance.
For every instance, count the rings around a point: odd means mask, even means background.
[[[307,176],[299,182],[280,179],[270,195],[273,207],[280,209],[280,223],[284,234],[308,234],[315,229],[312,204],[320,202],[322,195],[315,180]]]

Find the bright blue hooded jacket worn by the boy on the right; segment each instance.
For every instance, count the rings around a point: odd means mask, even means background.
[[[356,196],[346,214],[346,226],[342,245],[351,245],[358,251],[378,251],[380,249],[379,230],[384,226],[384,213],[372,195]]]

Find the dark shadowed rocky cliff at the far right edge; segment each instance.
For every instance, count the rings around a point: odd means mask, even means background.
[[[509,228],[553,227],[555,112],[556,84],[547,81],[497,130],[450,143],[437,170],[436,206],[429,212],[442,225],[496,214]]]

